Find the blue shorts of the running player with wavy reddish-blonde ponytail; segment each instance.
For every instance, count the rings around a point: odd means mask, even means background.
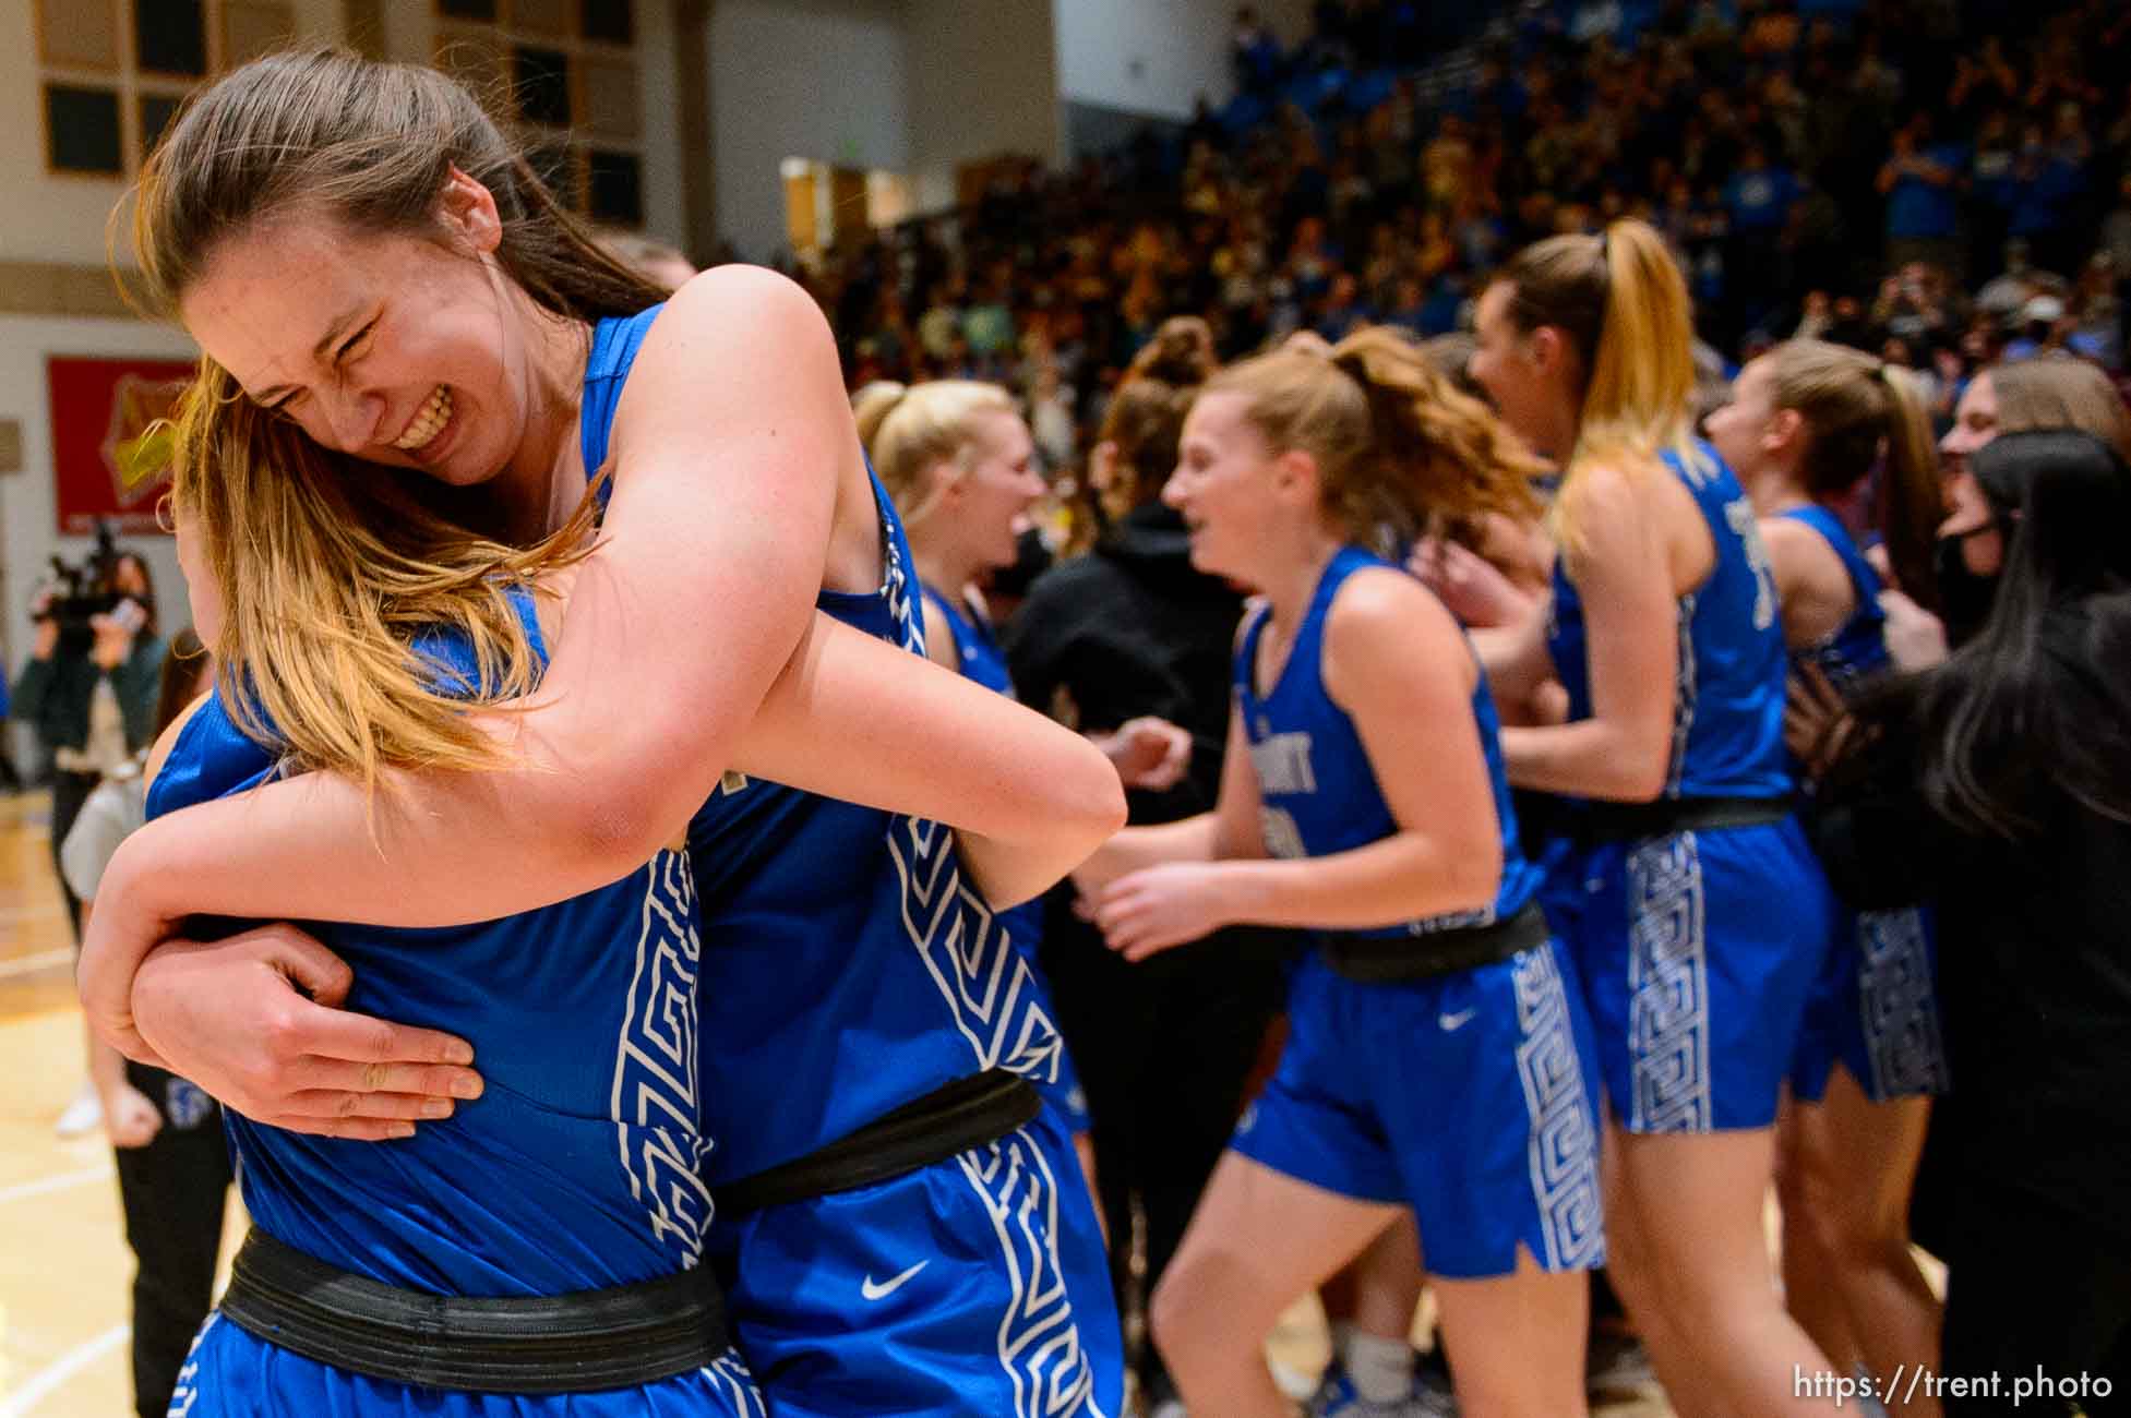
[[[1428,1271],[1605,1263],[1596,1060],[1553,943],[1479,969],[1362,984],[1315,952],[1287,1048],[1234,1150],[1340,1197],[1411,1205]]]

